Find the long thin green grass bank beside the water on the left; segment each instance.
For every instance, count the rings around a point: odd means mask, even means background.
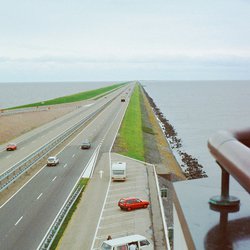
[[[79,101],[88,100],[90,98],[97,97],[99,95],[103,95],[109,91],[122,87],[126,83],[127,82],[114,84],[114,85],[110,85],[110,86],[99,88],[99,89],[94,89],[94,90],[90,90],[86,92],[80,92],[80,93],[73,94],[73,95],[62,96],[62,97],[58,97],[58,98],[47,100],[47,101],[35,102],[35,103],[12,107],[8,109],[30,108],[30,107],[37,107],[37,106],[48,106],[48,105],[56,105],[56,104],[63,104],[63,103],[70,103],[70,102],[79,102]]]

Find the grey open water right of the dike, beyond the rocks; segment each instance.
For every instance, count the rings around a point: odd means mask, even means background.
[[[218,130],[250,127],[250,81],[141,81],[209,176],[219,168],[207,148]]]

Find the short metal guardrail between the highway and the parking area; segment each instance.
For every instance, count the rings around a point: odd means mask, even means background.
[[[79,197],[83,190],[84,186],[81,187],[80,185],[76,188],[73,194],[70,195],[69,199],[66,201],[65,205],[60,210],[59,214],[54,220],[51,229],[48,231],[47,235],[45,236],[42,245],[39,249],[46,250],[50,249],[62,223],[64,222],[66,216],[68,215],[71,207],[74,205],[76,199]]]

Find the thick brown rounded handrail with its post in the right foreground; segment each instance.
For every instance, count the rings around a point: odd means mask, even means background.
[[[210,199],[216,206],[239,206],[239,199],[229,195],[229,175],[250,193],[250,128],[248,130],[221,131],[208,141],[208,148],[222,170],[221,195]]]

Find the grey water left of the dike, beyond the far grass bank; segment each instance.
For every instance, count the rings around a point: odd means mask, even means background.
[[[45,101],[112,84],[114,82],[0,83],[0,109]]]

